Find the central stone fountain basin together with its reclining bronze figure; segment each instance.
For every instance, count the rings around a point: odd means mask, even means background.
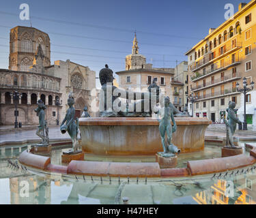
[[[100,70],[100,117],[79,119],[83,152],[94,155],[155,155],[162,151],[159,123],[152,114],[164,96],[153,82],[148,93],[124,91],[113,86],[113,71]],[[120,98],[137,100],[134,104],[122,103]],[[139,100],[139,101],[138,101]],[[148,103],[149,106],[146,107]],[[133,108],[132,111],[129,108]],[[205,129],[211,123],[207,118],[186,117],[173,104],[177,131],[173,144],[182,153],[201,151],[204,148]],[[115,110],[119,108],[119,110]],[[137,109],[141,110],[138,112]]]

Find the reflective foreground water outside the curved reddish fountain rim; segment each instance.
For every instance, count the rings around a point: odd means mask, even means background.
[[[7,151],[8,150],[8,151]],[[10,151],[9,151],[10,150]],[[39,174],[8,167],[23,148],[1,149],[0,204],[256,204],[256,172],[244,169],[228,176],[163,179],[94,178]],[[210,151],[209,151],[210,152]],[[52,153],[60,163],[61,149]]]

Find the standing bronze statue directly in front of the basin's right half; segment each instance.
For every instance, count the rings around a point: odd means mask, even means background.
[[[162,119],[158,116],[162,115]],[[177,125],[175,123],[173,108],[170,107],[169,97],[165,97],[165,107],[158,110],[157,119],[159,121],[159,131],[161,136],[163,152],[158,152],[162,157],[175,157],[175,153],[180,153],[180,149],[171,143],[173,132],[176,131]],[[171,125],[173,122],[173,126]],[[167,134],[167,142],[165,142],[165,133]]]

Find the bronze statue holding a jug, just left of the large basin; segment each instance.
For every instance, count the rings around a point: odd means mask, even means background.
[[[79,134],[79,119],[76,118],[76,121],[74,120],[74,97],[73,93],[69,93],[68,95],[68,108],[66,112],[66,116],[63,119],[61,123],[61,133],[65,134],[66,131],[68,131],[68,134],[70,135],[70,138],[72,139],[72,149],[68,151],[68,153],[77,153],[79,152],[79,142],[78,142],[78,134]],[[66,123],[66,125],[65,125]]]

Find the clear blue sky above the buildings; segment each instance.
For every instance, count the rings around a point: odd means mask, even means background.
[[[114,72],[125,69],[125,57],[131,53],[134,30],[137,31],[139,52],[147,57],[148,63],[153,63],[154,67],[175,67],[176,60],[187,60],[184,52],[205,37],[210,27],[218,27],[225,21],[225,4],[232,3],[237,12],[240,2],[1,0],[0,68],[8,68],[9,27],[30,26],[30,21],[19,19],[21,3],[30,7],[32,26],[48,33],[52,64],[58,59],[70,59],[89,66],[98,74],[105,63]],[[56,20],[61,22],[54,22]]]

